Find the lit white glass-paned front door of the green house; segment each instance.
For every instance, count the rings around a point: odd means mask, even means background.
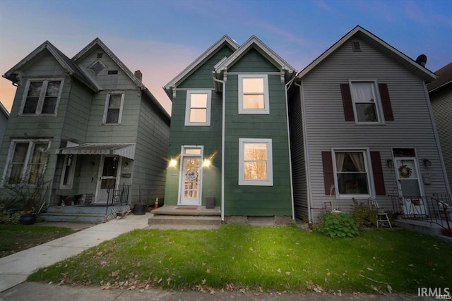
[[[182,147],[179,204],[201,206],[203,147]]]

